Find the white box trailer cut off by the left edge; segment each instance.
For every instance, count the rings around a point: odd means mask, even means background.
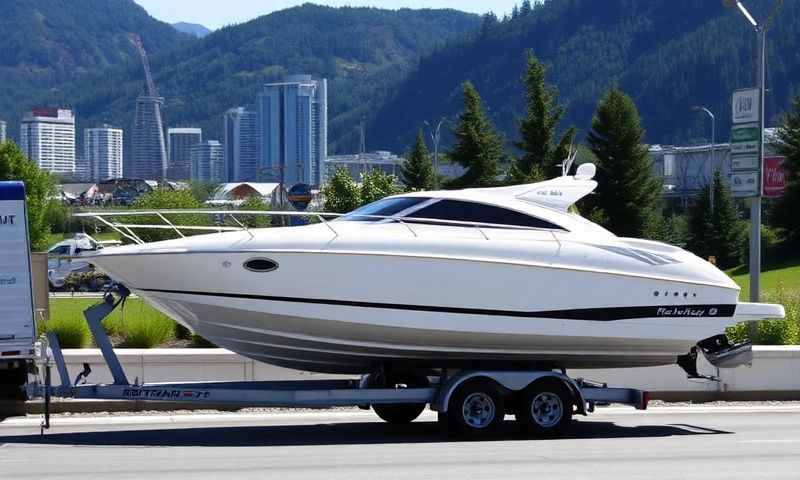
[[[0,399],[19,398],[34,358],[28,238],[25,185],[0,182]]]

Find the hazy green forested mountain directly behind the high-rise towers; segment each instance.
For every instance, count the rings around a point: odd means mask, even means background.
[[[328,78],[329,151],[353,151],[355,126],[380,109],[420,57],[479,24],[455,10],[306,4],[221,28],[151,55],[150,63],[166,100],[165,126],[202,127],[208,139],[220,139],[223,112],[254,102],[264,83],[295,73]],[[58,100],[75,106],[78,128],[127,129],[143,77],[130,61],[65,86]]]

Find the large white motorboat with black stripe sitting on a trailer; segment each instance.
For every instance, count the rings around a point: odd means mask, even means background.
[[[298,370],[643,367],[686,363],[698,344],[740,364],[749,346],[730,345],[725,328],[783,307],[738,302],[711,263],[575,213],[595,170],[85,258],[216,345]]]

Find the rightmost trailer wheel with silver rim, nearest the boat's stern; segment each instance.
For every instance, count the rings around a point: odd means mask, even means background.
[[[563,431],[572,420],[573,396],[557,380],[534,382],[522,391],[517,422],[527,432],[537,435]]]

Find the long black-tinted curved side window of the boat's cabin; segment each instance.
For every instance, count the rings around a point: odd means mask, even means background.
[[[499,225],[513,225],[516,227],[564,230],[554,223],[550,223],[546,220],[542,220],[541,218],[537,218],[522,212],[517,212],[516,210],[509,210],[507,208],[498,207],[495,205],[486,205],[483,203],[465,202],[462,200],[441,200],[434,204],[420,208],[416,212],[413,212],[411,215],[409,215],[409,217],[450,220],[457,222],[496,223]],[[409,219],[408,222],[413,223],[414,221]]]

